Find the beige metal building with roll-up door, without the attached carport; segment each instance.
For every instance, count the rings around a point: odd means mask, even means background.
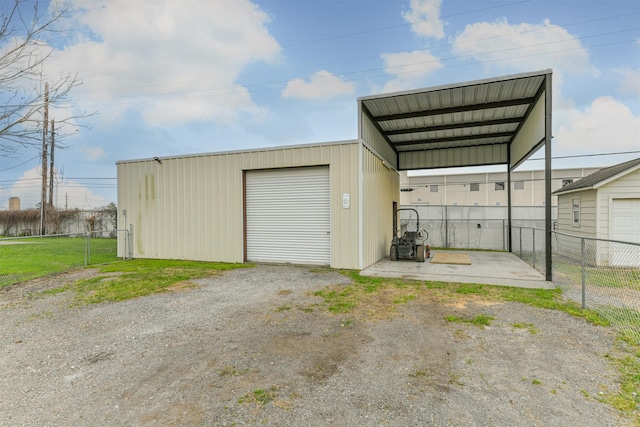
[[[388,250],[399,189],[359,140],[118,162],[137,258],[363,268]]]

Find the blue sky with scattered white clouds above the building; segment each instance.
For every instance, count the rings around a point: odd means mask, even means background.
[[[118,160],[353,139],[359,96],[547,68],[553,155],[581,156],[555,168],[640,156],[637,0],[59,3],[44,73],[98,113],[56,153],[61,208],[115,202]],[[0,154],[0,209],[40,201],[38,154]]]

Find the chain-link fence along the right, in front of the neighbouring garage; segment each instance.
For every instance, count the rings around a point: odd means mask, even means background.
[[[513,252],[545,270],[544,230],[513,227]],[[560,232],[551,235],[553,282],[640,344],[640,244]]]

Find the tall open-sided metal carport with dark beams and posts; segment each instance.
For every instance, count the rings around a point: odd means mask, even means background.
[[[506,165],[509,252],[511,172],[544,146],[547,281],[552,279],[551,76],[543,70],[358,99],[360,139],[389,167]]]

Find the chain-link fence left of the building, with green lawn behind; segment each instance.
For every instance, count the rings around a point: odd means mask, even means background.
[[[130,241],[127,230],[2,238],[0,288],[48,274],[115,261],[118,259],[118,237],[125,245]]]

